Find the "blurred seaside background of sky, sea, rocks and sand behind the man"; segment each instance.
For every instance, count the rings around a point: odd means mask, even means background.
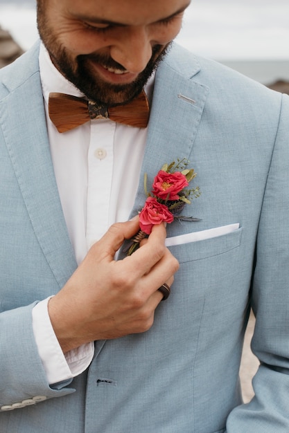
[[[0,67],[37,40],[36,0],[0,0]],[[289,94],[288,0],[192,0],[177,42],[272,89]],[[259,365],[250,351],[251,314],[240,368],[245,402]]]

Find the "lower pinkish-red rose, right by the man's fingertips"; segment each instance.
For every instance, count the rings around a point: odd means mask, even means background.
[[[166,205],[159,203],[154,197],[148,197],[146,203],[139,214],[139,227],[146,234],[152,231],[152,225],[173,222],[173,214]]]

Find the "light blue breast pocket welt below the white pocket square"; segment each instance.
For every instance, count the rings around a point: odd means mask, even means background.
[[[184,243],[183,245],[168,247],[179,263],[206,259],[208,257],[224,254],[238,248],[242,237],[243,228],[234,232],[222,234],[222,236]]]

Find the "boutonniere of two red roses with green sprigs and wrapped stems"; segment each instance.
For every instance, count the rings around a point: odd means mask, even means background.
[[[193,216],[182,216],[181,212],[186,205],[191,204],[193,198],[200,196],[200,188],[190,188],[189,183],[197,176],[194,169],[188,168],[189,161],[186,158],[177,159],[177,163],[164,164],[155,176],[152,190],[148,192],[148,176],[144,176],[144,190],[146,202],[139,212],[139,232],[130,241],[126,248],[128,255],[139,247],[141,239],[148,237],[152,226],[173,221],[200,221]]]

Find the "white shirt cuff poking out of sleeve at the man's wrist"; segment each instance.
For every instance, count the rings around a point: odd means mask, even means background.
[[[51,325],[48,302],[51,297],[35,305],[32,324],[38,353],[49,385],[69,380],[89,366],[94,356],[94,343],[89,342],[67,353],[62,352]]]

